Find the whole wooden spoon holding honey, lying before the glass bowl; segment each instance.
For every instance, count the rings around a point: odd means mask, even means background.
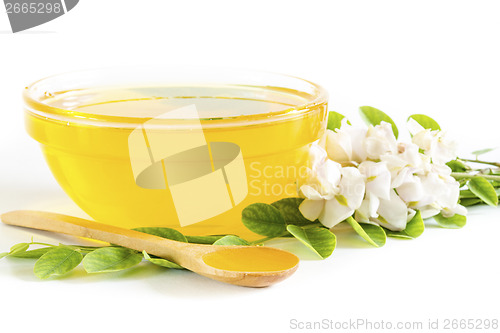
[[[92,238],[174,261],[208,278],[245,287],[267,287],[292,275],[299,259],[266,246],[177,242],[73,216],[20,210],[2,214],[6,224]]]

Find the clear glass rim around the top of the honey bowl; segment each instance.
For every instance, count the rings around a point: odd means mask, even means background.
[[[30,115],[35,117],[42,118],[46,121],[54,121],[54,122],[62,122],[65,124],[68,123],[76,123],[76,124],[85,124],[91,126],[99,126],[99,127],[119,127],[119,128],[131,128],[137,127],[140,124],[152,119],[151,117],[130,117],[130,116],[116,116],[116,115],[99,115],[99,118],[91,117],[92,113],[78,112],[78,115],[73,115],[74,110],[60,108],[52,106],[44,101],[40,100],[39,97],[33,96],[34,89],[43,83],[50,82],[51,80],[57,80],[58,78],[64,76],[76,76],[82,75],[86,73],[98,73],[105,71],[127,71],[127,70],[153,70],[160,68],[163,71],[169,70],[210,70],[210,71],[238,71],[241,73],[247,73],[252,75],[270,75],[276,78],[283,79],[292,79],[297,82],[305,83],[314,89],[315,94],[312,96],[310,100],[303,104],[299,104],[296,106],[292,106],[283,110],[266,112],[266,113],[258,113],[252,115],[238,115],[238,116],[227,116],[227,117],[214,117],[214,118],[201,118],[200,121],[203,123],[204,127],[226,127],[226,126],[238,126],[242,124],[248,124],[248,120],[252,120],[252,124],[262,123],[262,122],[274,122],[279,120],[288,120],[296,117],[303,116],[307,114],[308,111],[314,111],[316,106],[321,104],[326,104],[328,101],[328,92],[319,84],[311,82],[309,80],[302,79],[297,76],[281,74],[270,71],[261,71],[261,70],[248,70],[241,68],[229,68],[229,67],[207,67],[207,66],[113,66],[113,67],[101,67],[101,68],[90,68],[83,69],[77,71],[67,71],[54,75],[50,75],[39,79],[37,81],[32,82],[27,85],[23,90],[23,100],[25,105],[25,111]],[[251,85],[241,85],[241,84],[230,84],[233,86],[246,86],[251,87]],[[269,88],[286,88],[282,86],[266,86]],[[111,86],[110,86],[111,87]],[[82,88],[81,90],[92,89],[90,88]],[[298,91],[299,92],[299,91]],[[83,115],[88,115],[89,117],[84,117]],[[166,124],[166,127],[180,128],[180,127],[190,127],[190,121],[192,119],[179,119],[179,120],[169,120],[169,124]]]

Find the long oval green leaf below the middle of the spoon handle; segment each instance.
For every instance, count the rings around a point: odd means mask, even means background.
[[[87,273],[114,272],[137,265],[142,255],[124,247],[103,247],[85,256],[83,268]]]

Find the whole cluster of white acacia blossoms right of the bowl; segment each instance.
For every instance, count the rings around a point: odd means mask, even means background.
[[[300,186],[307,219],[331,228],[350,216],[358,222],[404,230],[420,211],[465,215],[458,204],[460,185],[446,162],[456,158],[455,143],[444,132],[408,121],[411,142],[398,142],[391,124],[327,130],[311,148],[310,174]]]

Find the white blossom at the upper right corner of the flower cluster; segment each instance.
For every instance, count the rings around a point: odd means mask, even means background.
[[[425,155],[430,156],[433,163],[445,164],[457,157],[457,144],[447,138],[445,132],[425,129],[412,118],[408,120],[407,126],[413,136],[412,142],[419,146]]]

